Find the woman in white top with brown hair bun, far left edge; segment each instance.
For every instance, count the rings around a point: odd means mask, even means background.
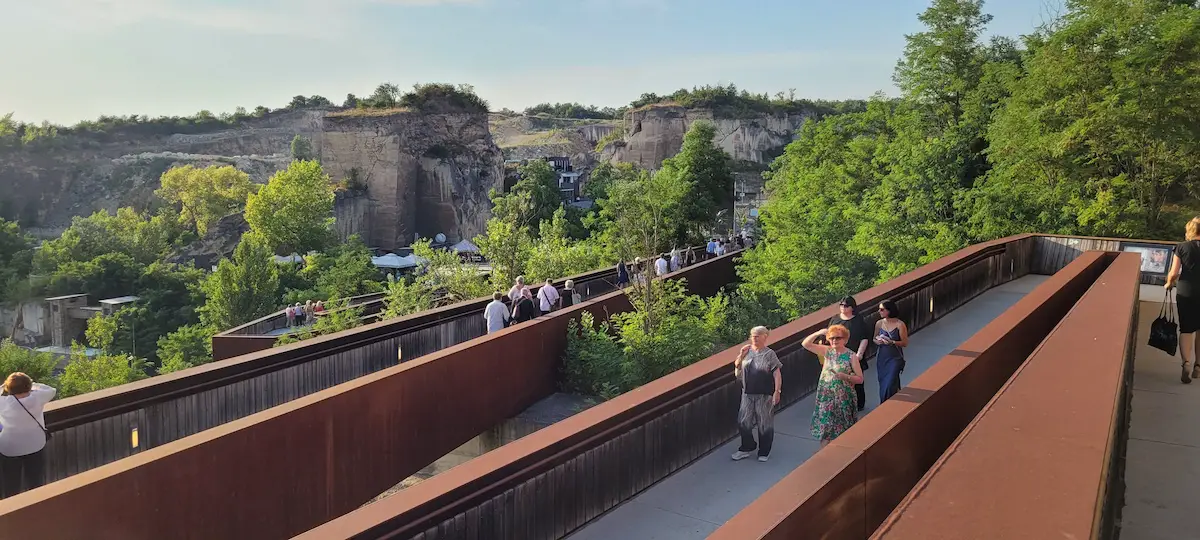
[[[16,372],[0,396],[0,498],[41,487],[46,482],[46,431],[42,410],[58,391]]]

